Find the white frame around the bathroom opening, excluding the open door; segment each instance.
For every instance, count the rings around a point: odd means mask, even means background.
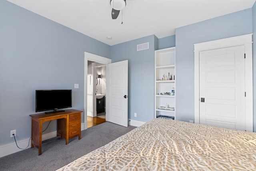
[[[98,62],[100,64],[106,64],[106,74],[108,75],[107,64],[111,63],[111,59],[84,52],[84,129],[87,129],[87,75],[88,75],[88,61]],[[107,82],[108,80],[106,80]],[[108,97],[108,87],[106,83],[106,97]],[[108,115],[108,101],[106,101],[106,119]]]

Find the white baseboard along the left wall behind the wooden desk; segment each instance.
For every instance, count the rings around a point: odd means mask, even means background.
[[[84,130],[84,123],[81,123],[81,131]],[[87,128],[86,128],[87,129]],[[46,140],[46,139],[51,139],[57,136],[57,131],[53,131],[53,132],[49,132],[49,133],[45,133],[42,135],[42,141]],[[27,139],[22,139],[20,141],[17,141],[17,144],[20,148],[25,148],[26,149],[31,147],[31,140],[29,141],[30,138]],[[29,145],[28,145],[28,141],[29,141]],[[36,148],[36,147],[34,147]],[[8,144],[4,144],[4,145],[0,145],[0,157],[4,157],[6,155],[10,155],[12,153],[16,153],[18,151],[22,151],[24,149],[19,149],[16,146],[16,143],[8,143]]]

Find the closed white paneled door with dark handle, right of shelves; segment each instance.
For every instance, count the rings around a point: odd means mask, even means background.
[[[244,46],[202,51],[199,60],[200,123],[246,130]]]

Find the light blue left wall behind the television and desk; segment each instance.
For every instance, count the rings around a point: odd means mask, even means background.
[[[30,137],[36,89],[73,89],[73,108],[84,109],[85,51],[110,58],[110,46],[0,1],[0,145],[14,142],[13,129]]]

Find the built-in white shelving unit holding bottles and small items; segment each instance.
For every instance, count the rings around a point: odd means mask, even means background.
[[[156,50],[155,118],[158,115],[175,118],[175,79],[175,47]]]

